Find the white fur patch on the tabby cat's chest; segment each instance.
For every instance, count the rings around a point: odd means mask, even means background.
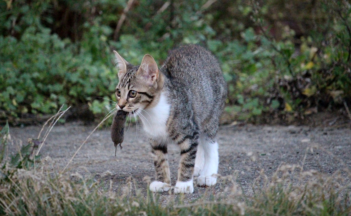
[[[165,94],[162,93],[156,106],[140,112],[139,116],[143,121],[144,131],[147,136],[154,139],[167,139],[166,124],[170,116],[170,108],[171,105],[167,102]]]

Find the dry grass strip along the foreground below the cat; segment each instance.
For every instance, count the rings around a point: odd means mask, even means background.
[[[14,142],[6,130],[1,143]],[[273,176],[261,174],[244,194],[236,176],[220,177],[217,194],[188,202],[185,196],[141,193],[132,178],[112,191],[104,180],[58,173],[49,158],[34,156],[34,142],[1,162],[0,215],[350,215],[349,169],[333,175],[282,164]]]

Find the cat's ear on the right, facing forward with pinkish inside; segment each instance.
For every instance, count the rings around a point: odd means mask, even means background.
[[[144,77],[150,84],[154,84],[159,77],[159,70],[156,64],[156,61],[152,58],[151,55],[144,55],[143,60],[141,61],[138,73]]]

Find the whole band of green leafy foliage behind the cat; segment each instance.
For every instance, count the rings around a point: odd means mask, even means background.
[[[106,113],[118,82],[112,50],[135,65],[149,53],[161,65],[182,43],[219,58],[235,119],[303,116],[351,101],[349,3],[206,3],[161,10],[166,1],[138,1],[115,32],[125,1],[0,2],[0,118],[54,113],[64,103]]]

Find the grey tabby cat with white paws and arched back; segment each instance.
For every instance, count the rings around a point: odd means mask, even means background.
[[[175,194],[193,192],[193,176],[200,187],[217,182],[219,117],[224,109],[227,86],[218,60],[199,45],[172,50],[159,68],[146,54],[133,66],[116,51],[119,83],[117,110],[139,115],[150,139],[155,181],[153,192],[171,188],[167,144],[180,147]]]

